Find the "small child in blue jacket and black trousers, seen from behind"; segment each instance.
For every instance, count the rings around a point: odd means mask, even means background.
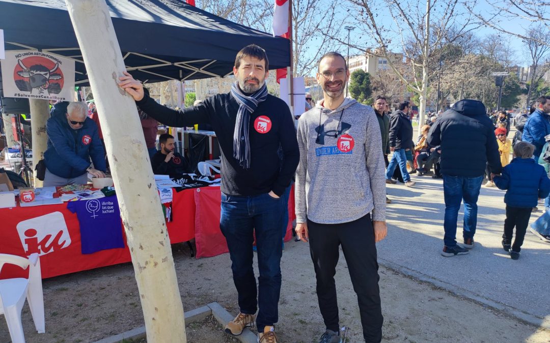
[[[502,175],[495,175],[494,184],[499,189],[507,189],[504,195],[506,203],[506,220],[502,235],[502,248],[509,251],[512,260],[519,258],[519,252],[531,211],[537,206],[538,198],[546,198],[550,193],[550,179],[544,167],[533,160],[535,145],[520,142],[514,147],[514,159],[502,170]],[[514,244],[512,235],[516,228]]]

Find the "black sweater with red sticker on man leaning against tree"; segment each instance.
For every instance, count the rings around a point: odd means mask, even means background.
[[[212,125],[222,150],[222,192],[227,195],[251,196],[273,190],[281,196],[298,167],[300,152],[290,109],[283,100],[273,95],[267,95],[266,100],[250,115],[249,169],[239,166],[239,161],[233,157],[233,131],[239,104],[231,93],[214,95],[197,106],[181,111],[157,104],[147,95],[136,104],[164,125]],[[279,147],[282,149],[282,159],[277,153]]]

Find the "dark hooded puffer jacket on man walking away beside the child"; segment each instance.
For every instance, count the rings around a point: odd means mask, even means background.
[[[432,125],[427,140],[431,147],[441,145],[443,175],[479,177],[487,162],[493,173],[500,174],[494,126],[480,101],[456,102]]]

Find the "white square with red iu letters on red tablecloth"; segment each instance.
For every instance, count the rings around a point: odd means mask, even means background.
[[[71,243],[69,230],[61,212],[48,213],[19,222],[17,232],[27,256],[34,252],[40,256],[50,254],[67,248]]]

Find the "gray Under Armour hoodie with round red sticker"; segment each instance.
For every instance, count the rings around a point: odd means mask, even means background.
[[[386,220],[386,165],[370,106],[345,98],[331,111],[317,103],[298,121],[298,147],[296,222],[345,223],[370,212]]]

